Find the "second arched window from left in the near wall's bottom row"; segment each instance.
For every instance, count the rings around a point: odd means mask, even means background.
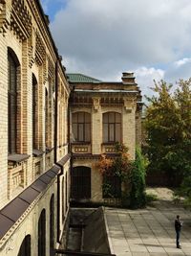
[[[46,211],[42,210],[38,221],[38,256],[46,256]]]

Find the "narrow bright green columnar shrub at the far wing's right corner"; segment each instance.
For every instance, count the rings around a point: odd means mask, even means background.
[[[136,149],[136,160],[131,173],[130,207],[138,209],[146,204],[145,161],[140,149]]]

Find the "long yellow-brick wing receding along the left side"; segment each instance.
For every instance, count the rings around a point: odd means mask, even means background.
[[[0,255],[53,255],[69,212],[69,84],[38,0],[0,0]]]

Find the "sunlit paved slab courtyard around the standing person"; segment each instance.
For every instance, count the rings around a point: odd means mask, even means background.
[[[112,253],[117,256],[191,256],[191,212],[175,205],[168,190],[155,192],[161,198],[152,207],[140,210],[105,208]],[[183,221],[181,249],[176,248],[175,240],[177,215]]]

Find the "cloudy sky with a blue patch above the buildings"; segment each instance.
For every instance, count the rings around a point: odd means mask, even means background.
[[[190,0],[41,0],[68,73],[120,81],[135,73],[142,95],[154,80],[191,77]],[[144,98],[143,98],[144,101]]]

